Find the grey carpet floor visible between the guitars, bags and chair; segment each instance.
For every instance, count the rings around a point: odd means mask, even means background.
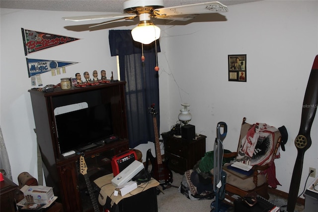
[[[182,175],[172,172],[173,182],[171,185],[179,187]],[[164,193],[164,194],[163,194]],[[163,190],[157,196],[158,212],[210,212],[212,200],[190,200],[180,193],[180,189],[170,187]],[[287,200],[270,194],[269,202],[278,207],[286,206]],[[233,212],[234,209],[229,208],[227,212]],[[286,207],[282,207],[281,211],[286,211]],[[304,206],[296,205],[295,212],[303,212]]]

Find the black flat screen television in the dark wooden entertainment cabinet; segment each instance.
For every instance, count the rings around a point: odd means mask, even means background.
[[[111,137],[113,135],[111,114],[110,103],[56,114],[60,153],[80,150],[84,146]]]

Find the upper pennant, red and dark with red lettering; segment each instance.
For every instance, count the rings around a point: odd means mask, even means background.
[[[21,30],[25,56],[29,53],[79,40],[79,38],[48,34],[23,28]]]

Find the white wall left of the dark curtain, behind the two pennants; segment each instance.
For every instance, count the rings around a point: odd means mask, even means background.
[[[58,84],[61,78],[74,77],[77,72],[106,70],[108,78],[113,71],[117,79],[116,57],[110,56],[108,30],[76,32],[65,26],[76,25],[62,20],[76,12],[17,10],[1,8],[1,113],[0,124],[12,168],[12,178],[17,183],[21,172],[37,178],[36,134],[31,99],[31,79],[28,78],[25,58],[79,62],[67,66],[66,74],[52,77],[41,74],[43,85]],[[82,23],[81,23],[82,24]],[[24,55],[21,28],[80,38],[80,40]]]

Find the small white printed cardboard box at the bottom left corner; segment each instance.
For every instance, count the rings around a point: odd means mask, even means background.
[[[27,203],[49,204],[54,201],[52,187],[25,185],[20,189],[20,191],[23,192]]]

